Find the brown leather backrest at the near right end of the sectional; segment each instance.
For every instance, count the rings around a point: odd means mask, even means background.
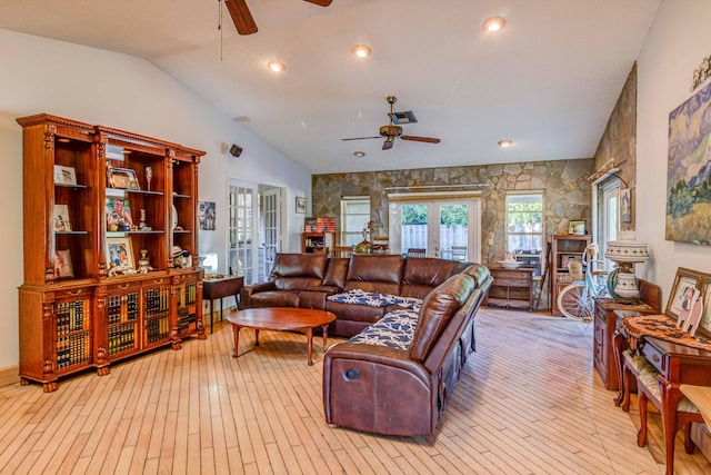
[[[458,274],[424,297],[420,323],[410,346],[410,358],[424,362],[452,316],[473,290],[474,279],[465,274]]]

